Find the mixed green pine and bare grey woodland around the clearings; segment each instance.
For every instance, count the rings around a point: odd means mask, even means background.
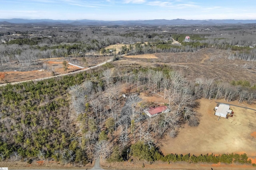
[[[249,28],[241,32],[214,27],[201,30],[201,34],[194,28],[177,27],[15,29],[0,32],[1,39],[6,40],[0,44],[2,65],[29,66],[38,64],[38,59],[99,55],[118,60],[122,54],[193,52],[205,47],[235,51],[232,57],[244,61],[256,59],[255,48],[249,47],[254,40],[234,40],[238,34],[252,34]],[[183,42],[186,29],[192,39],[189,43]],[[227,33],[225,38],[219,38],[222,32]],[[181,45],[172,44],[172,38]],[[130,44],[117,54],[115,49],[105,48],[124,42]],[[8,84],[0,87],[0,160],[55,160],[83,166],[96,156],[109,162],[125,161],[130,150],[130,155],[151,162],[251,163],[246,154],[164,156],[158,140],[164,135],[175,138],[185,123],[199,125],[197,99],[253,104],[255,90],[256,85],[247,80],[187,80],[166,64],[118,65],[114,61],[70,76]],[[141,93],[161,96],[170,111],[153,118],[146,116],[144,110],[156,104],[144,102]]]

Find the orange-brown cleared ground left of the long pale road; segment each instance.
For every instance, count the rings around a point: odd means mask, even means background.
[[[65,72],[63,68],[63,61],[74,63],[78,66],[89,67],[96,64],[102,63],[111,57],[90,57],[86,58],[86,62],[82,61],[82,58],[71,58],[71,59],[46,59],[40,60],[35,65],[20,66],[17,64],[6,64],[1,66],[0,69],[0,84],[10,82],[20,82],[25,80],[33,80],[36,78],[43,78],[52,76],[54,74],[65,74],[68,72],[74,72],[81,70],[81,68],[68,64],[68,70]]]

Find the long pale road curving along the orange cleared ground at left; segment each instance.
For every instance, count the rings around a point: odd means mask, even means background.
[[[106,63],[109,63],[113,61],[113,59],[109,59],[108,61],[105,61],[103,63],[100,63],[100,64],[97,64],[96,66],[92,66],[92,67],[89,67],[89,68],[86,68],[86,69],[83,69],[83,70],[78,70],[76,72],[69,72],[69,73],[66,73],[66,74],[59,74],[59,75],[56,75],[56,76],[50,76],[50,77],[43,77],[43,78],[37,78],[37,79],[32,79],[32,80],[26,80],[26,81],[21,81],[21,82],[12,82],[12,83],[4,83],[4,84],[0,84],[0,86],[6,86],[7,84],[18,84],[18,83],[22,83],[22,82],[29,82],[29,81],[41,81],[41,80],[46,80],[46,79],[49,79],[49,78],[54,78],[54,77],[61,77],[61,76],[66,76],[66,75],[71,75],[71,74],[76,74],[78,72],[83,72],[83,71],[86,71],[86,70],[90,70],[92,68],[96,68],[98,66],[102,66]],[[74,65],[74,64],[73,64]]]

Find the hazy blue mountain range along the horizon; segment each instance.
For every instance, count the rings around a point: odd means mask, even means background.
[[[130,20],[130,21],[102,21],[102,20],[24,20],[19,18],[0,19],[0,24],[70,24],[70,25],[221,25],[248,24],[256,20]]]

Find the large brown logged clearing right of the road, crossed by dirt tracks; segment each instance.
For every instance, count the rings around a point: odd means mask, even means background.
[[[124,60],[117,63],[142,66],[164,63],[182,72],[188,80],[195,78],[213,78],[215,81],[224,82],[248,80],[251,85],[256,84],[256,62],[228,59],[229,54],[225,50],[206,48],[193,53],[158,53],[155,54],[157,58],[152,59],[142,56],[124,57]]]

